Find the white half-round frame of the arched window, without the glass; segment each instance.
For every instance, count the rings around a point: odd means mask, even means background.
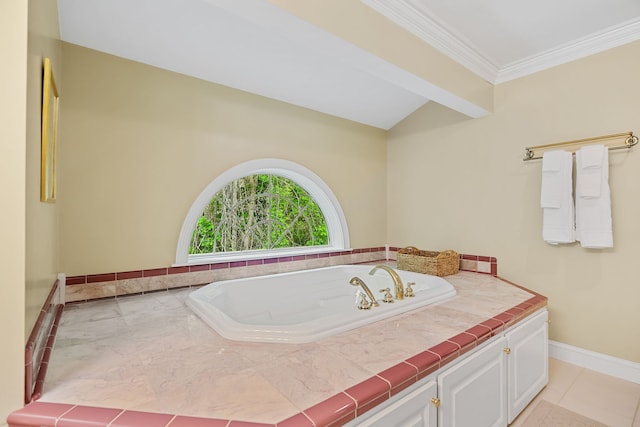
[[[304,188],[313,197],[324,215],[329,243],[323,246],[189,254],[189,246],[198,218],[216,193],[238,178],[259,174],[283,176]],[[329,186],[318,175],[304,166],[288,160],[258,159],[241,163],[226,170],[211,181],[198,195],[182,223],[174,266],[320,254],[348,250],[348,248],[349,231],[340,203]]]

